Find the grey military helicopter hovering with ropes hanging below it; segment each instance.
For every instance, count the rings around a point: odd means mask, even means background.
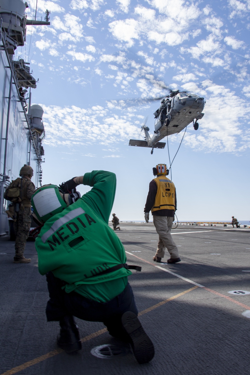
[[[193,122],[193,127],[198,130],[197,120],[204,116],[202,113],[205,101],[199,95],[190,94],[186,91],[168,90],[169,95],[161,100],[161,105],[154,113],[154,135],[150,137],[146,126],[147,119],[141,127],[144,130],[145,141],[139,139],[130,139],[130,146],[150,147],[153,154],[154,148],[164,148],[166,143],[159,142],[165,136],[180,133],[188,124]],[[159,100],[155,98],[152,100]]]

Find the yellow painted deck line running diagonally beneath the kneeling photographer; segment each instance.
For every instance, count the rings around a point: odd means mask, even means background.
[[[172,297],[170,297],[170,298],[168,298],[168,299],[166,299],[166,300],[164,300],[164,301],[162,301],[162,302],[159,302],[159,303],[157,303],[156,305],[153,305],[153,306],[149,307],[148,309],[145,309],[145,310],[139,312],[138,317],[140,317],[140,316],[143,315],[143,314],[147,314],[148,312],[150,312],[150,311],[152,311],[152,310],[154,310],[154,309],[156,309],[156,308],[158,308],[158,307],[164,305],[165,303],[167,303],[167,302],[169,302],[169,301],[174,300],[175,298],[178,298],[178,297],[180,297],[180,296],[183,296],[183,294],[189,293],[189,292],[191,292],[192,290],[194,290],[194,289],[196,289],[196,288],[198,288],[198,287],[190,288],[190,289],[185,290],[184,292],[178,293],[178,294],[176,294],[175,296],[172,296]],[[97,331],[97,332],[94,332],[94,333],[91,333],[91,334],[88,335],[88,336],[85,336],[84,338],[81,339],[81,342],[89,341],[89,340],[91,340],[91,339],[93,339],[93,338],[95,338],[95,337],[97,337],[97,336],[102,335],[102,334],[105,333],[105,332],[107,332],[107,329],[106,329],[106,328],[103,328],[103,329],[101,329],[101,330],[99,330],[99,331]],[[3,372],[3,373],[0,374],[0,375],[13,375],[13,374],[16,374],[16,373],[19,372],[19,371],[25,370],[25,369],[27,369],[27,368],[30,367],[30,366],[36,365],[37,363],[42,362],[42,361],[44,361],[45,359],[48,359],[48,358],[51,358],[51,357],[57,356],[57,354],[60,354],[60,353],[63,353],[63,352],[64,352],[63,349],[52,350],[51,352],[46,353],[46,354],[44,354],[43,356],[37,357],[37,358],[35,358],[35,359],[32,359],[31,361],[25,362],[25,363],[23,363],[22,365],[19,365],[19,366],[13,367],[12,369]]]

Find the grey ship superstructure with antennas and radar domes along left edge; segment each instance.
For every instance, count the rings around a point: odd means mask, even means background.
[[[0,235],[9,230],[5,187],[19,177],[24,164],[34,170],[34,185],[42,182],[43,109],[31,105],[36,80],[30,64],[16,57],[16,49],[24,46],[28,25],[49,25],[49,11],[45,12],[45,21],[36,20],[36,16],[27,20],[27,7],[22,0],[0,0]]]

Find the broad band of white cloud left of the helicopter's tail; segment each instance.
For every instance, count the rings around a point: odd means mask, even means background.
[[[46,138],[51,146],[127,142],[139,135],[139,127],[123,116],[112,115],[108,108],[94,106],[59,107],[42,105]]]

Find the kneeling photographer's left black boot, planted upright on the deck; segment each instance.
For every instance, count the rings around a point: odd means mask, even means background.
[[[57,336],[58,347],[65,350],[66,353],[81,350],[82,344],[74,318],[71,315],[67,315],[59,323],[61,330]]]

